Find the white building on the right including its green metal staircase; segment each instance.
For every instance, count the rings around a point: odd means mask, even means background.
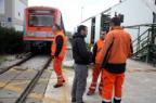
[[[87,18],[81,23],[89,29],[87,42],[94,43],[100,30],[118,14],[122,15],[122,26],[132,37],[133,59],[156,64],[156,0],[122,0]]]

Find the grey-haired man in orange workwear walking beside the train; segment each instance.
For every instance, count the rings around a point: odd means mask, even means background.
[[[54,40],[52,43],[51,51],[52,51],[52,57],[54,59],[53,69],[57,76],[57,82],[56,85],[54,85],[54,88],[58,88],[62,87],[63,83],[65,82],[62,73],[62,62],[66,53],[66,37],[58,25],[55,25],[53,27],[53,33],[54,33]]]

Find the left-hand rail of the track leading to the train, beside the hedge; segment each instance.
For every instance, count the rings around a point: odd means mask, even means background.
[[[25,63],[26,61],[30,60],[32,56],[35,56],[35,54],[30,53],[26,57],[24,57],[23,60],[21,60],[20,62],[15,63],[13,65],[10,65],[10,66],[8,66],[5,68],[0,69],[0,75],[3,74],[3,73],[5,73],[5,72],[8,72],[9,69],[11,69],[14,66],[18,66],[18,65]]]

